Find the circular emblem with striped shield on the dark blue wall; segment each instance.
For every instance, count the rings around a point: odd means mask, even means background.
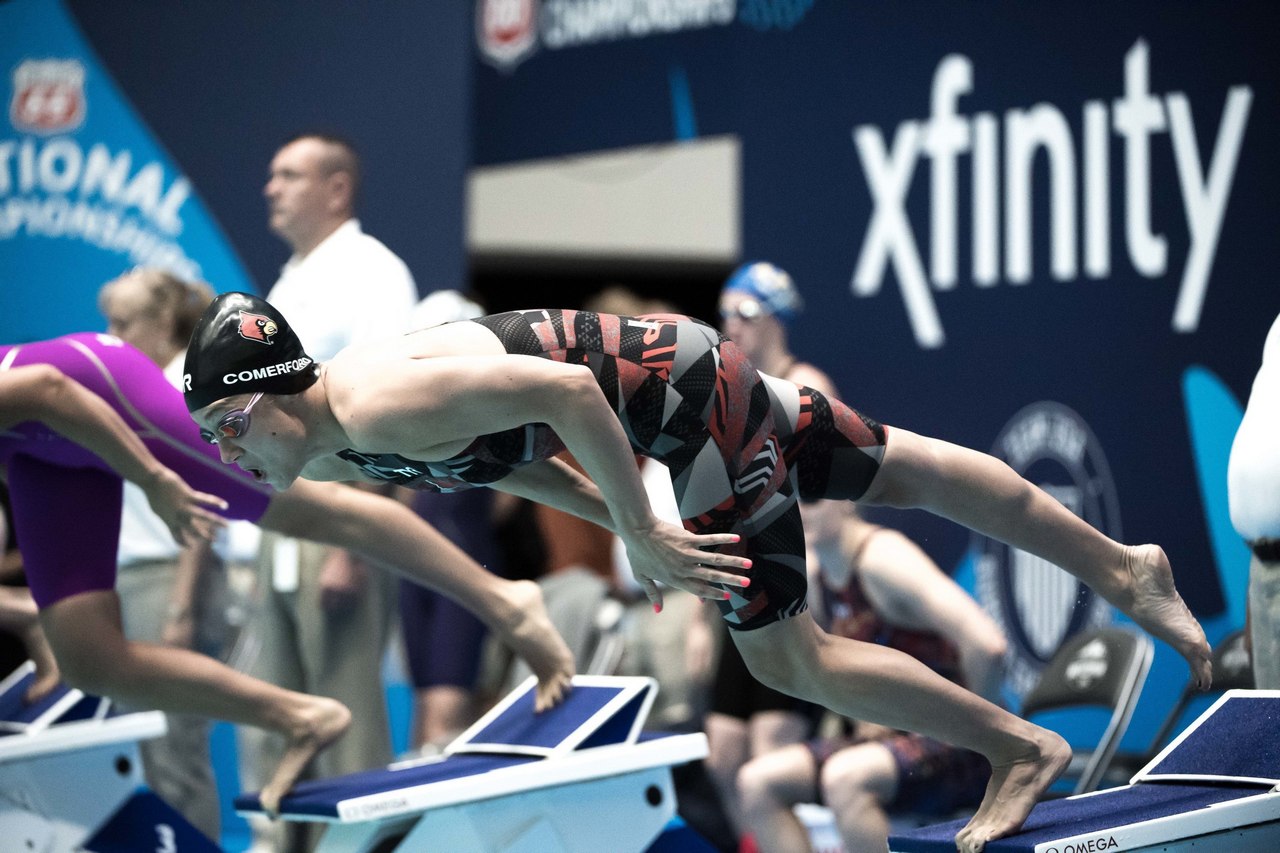
[[[1091,526],[1123,538],[1111,469],[1093,430],[1071,409],[1027,406],[991,452]],[[1009,684],[1018,695],[1036,684],[1068,638],[1111,622],[1110,605],[1047,560],[980,534],[974,534],[972,552],[978,597],[1009,638]]]

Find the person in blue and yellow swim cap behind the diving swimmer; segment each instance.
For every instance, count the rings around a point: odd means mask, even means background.
[[[786,272],[764,261],[742,264],[721,288],[721,329],[762,373],[837,397],[827,374],[791,352],[787,327],[803,307],[800,292]],[[709,626],[714,626],[710,630],[719,648],[705,726],[710,748],[707,766],[724,811],[741,831],[739,770],[756,756],[803,742],[819,710],[760,684],[728,640],[719,613],[708,606],[703,613]]]

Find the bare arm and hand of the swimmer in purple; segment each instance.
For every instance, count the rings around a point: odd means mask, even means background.
[[[45,424],[137,483],[179,542],[209,539],[223,524],[206,507],[227,508],[225,501],[188,487],[106,401],[56,368],[33,364],[0,371],[0,429],[24,421]]]

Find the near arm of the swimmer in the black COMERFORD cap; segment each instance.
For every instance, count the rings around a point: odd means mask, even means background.
[[[705,584],[690,587],[690,579],[707,567],[722,570],[726,579],[750,567],[745,557],[703,549],[731,544],[736,534],[699,535],[653,514],[622,424],[584,365],[522,355],[376,364],[335,359],[328,387],[333,415],[352,447],[394,448],[411,459],[480,432],[548,424],[599,487],[609,528],[626,543],[632,571],[658,607],[662,593],[654,580],[700,594]],[[548,488],[554,487],[540,483],[530,496],[550,500]]]

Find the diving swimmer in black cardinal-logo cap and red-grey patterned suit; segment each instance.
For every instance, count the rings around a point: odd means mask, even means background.
[[[992,777],[957,835],[978,850],[1018,829],[1066,767],[1059,735],[911,657],[823,631],[806,610],[797,501],[919,507],[1048,560],[1211,680],[1210,648],[1162,548],[1124,546],[986,453],[886,428],[760,374],[699,320],[540,309],[348,347],[306,382],[250,393],[262,351],[306,359],[283,315],[214,300],[192,336],[187,407],[227,464],[285,488],[300,476],[411,488],[499,488],[612,529],[655,608],[658,581],[716,599],[765,684],[838,713],[983,754]],[[256,387],[256,386],[255,386]],[[589,480],[553,456],[568,450]],[[671,471],[685,526],[657,519],[635,453]]]

